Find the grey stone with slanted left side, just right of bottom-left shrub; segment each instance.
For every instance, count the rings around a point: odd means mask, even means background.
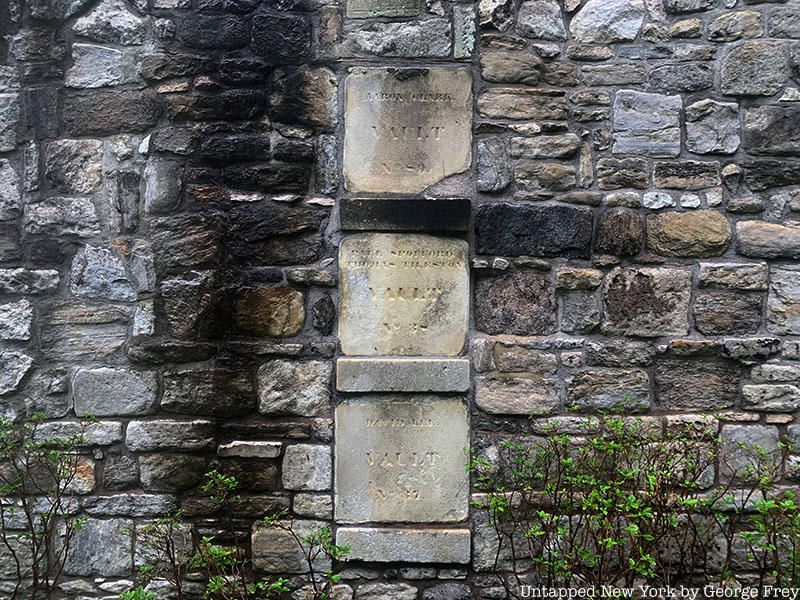
[[[126,577],[133,570],[133,521],[87,519],[69,546],[67,575]]]

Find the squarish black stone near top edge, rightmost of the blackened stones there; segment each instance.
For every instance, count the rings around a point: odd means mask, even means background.
[[[252,47],[278,62],[301,62],[311,51],[311,20],[304,15],[258,15]]]

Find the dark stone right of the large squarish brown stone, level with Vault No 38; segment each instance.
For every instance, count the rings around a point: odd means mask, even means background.
[[[761,294],[699,292],[694,303],[695,326],[704,335],[755,333],[761,326],[761,303]]]

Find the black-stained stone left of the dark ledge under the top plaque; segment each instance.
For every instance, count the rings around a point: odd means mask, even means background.
[[[237,206],[229,218],[234,257],[251,264],[307,264],[322,252],[328,209],[267,201]]]

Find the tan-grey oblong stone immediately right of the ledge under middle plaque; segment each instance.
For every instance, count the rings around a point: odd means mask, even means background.
[[[549,415],[561,405],[558,378],[540,372],[479,377],[475,404],[492,414]]]

